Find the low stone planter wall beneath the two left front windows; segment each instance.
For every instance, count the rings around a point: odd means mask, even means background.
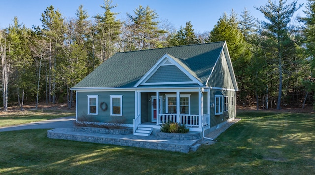
[[[125,129],[106,129],[106,128],[95,128],[95,127],[74,127],[76,132],[92,132],[100,134],[133,134],[133,128]]]

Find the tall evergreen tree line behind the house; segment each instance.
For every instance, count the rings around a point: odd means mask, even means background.
[[[116,19],[111,0],[104,0],[104,13],[92,18],[82,5],[73,18],[49,6],[41,14],[42,26],[32,29],[15,17],[0,30],[1,105],[5,111],[13,105],[23,109],[24,102],[36,108],[38,102],[67,102],[71,108],[70,88],[116,52],[226,41],[238,104],[304,108],[314,101],[315,0],[308,0],[305,17],[293,19],[301,6],[297,0],[268,0],[255,7],[263,21],[246,8],[240,15],[232,10],[204,33],[196,33],[190,21],[176,30],[149,6],[140,5],[124,21]]]

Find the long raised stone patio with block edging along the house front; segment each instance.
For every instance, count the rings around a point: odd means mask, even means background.
[[[47,131],[47,137],[51,139],[65,139],[82,142],[112,144],[120,146],[132,146],[148,149],[167,150],[188,153],[197,150],[200,144],[198,140],[174,140],[161,139],[155,135],[135,136],[133,134],[100,134],[90,132],[77,132],[73,128],[56,128]]]

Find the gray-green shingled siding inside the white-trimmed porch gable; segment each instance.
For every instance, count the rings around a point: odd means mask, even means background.
[[[145,83],[191,82],[192,80],[175,65],[160,66]]]

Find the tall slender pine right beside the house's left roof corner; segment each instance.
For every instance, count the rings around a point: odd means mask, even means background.
[[[59,66],[59,78],[62,80],[63,88],[66,91],[66,98],[68,102],[68,108],[73,106],[73,91],[70,88],[77,84],[87,75],[87,63],[88,51],[86,42],[88,39],[88,31],[90,21],[87,12],[83,10],[83,6],[79,6],[77,10],[77,19],[71,19],[67,22],[67,28],[65,31],[65,40],[67,43],[64,47],[67,49],[66,53],[63,53],[63,59],[60,60],[62,64]],[[60,98],[62,98],[61,96]]]

